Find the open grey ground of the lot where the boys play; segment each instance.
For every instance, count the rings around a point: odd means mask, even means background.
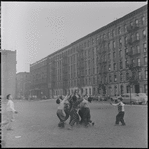
[[[114,126],[117,107],[109,103],[90,104],[95,126],[75,126],[73,130],[57,127],[55,100],[14,101],[13,131],[3,127],[6,147],[147,147],[147,106],[126,105],[126,126]],[[5,104],[2,104],[4,109]],[[3,111],[5,119],[5,111]]]

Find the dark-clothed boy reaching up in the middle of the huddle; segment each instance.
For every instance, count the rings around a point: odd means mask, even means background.
[[[78,105],[83,101],[83,98],[79,94],[74,94],[71,98],[71,109],[70,109],[70,121],[68,129],[71,130],[74,124],[79,123],[79,115],[78,115]]]

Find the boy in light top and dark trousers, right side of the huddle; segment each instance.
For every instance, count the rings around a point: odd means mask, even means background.
[[[79,107],[79,116],[81,117],[80,124],[84,124],[86,127],[89,126],[91,123],[94,125],[94,122],[91,121],[91,115],[90,115],[90,108],[89,108],[89,102],[91,103],[91,98],[88,98],[86,95],[83,98],[83,101],[80,103]]]

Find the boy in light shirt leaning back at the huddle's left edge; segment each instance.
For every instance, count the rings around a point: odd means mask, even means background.
[[[56,103],[59,104],[58,109],[57,109],[57,116],[60,120],[58,127],[63,128],[64,127],[64,122],[69,118],[69,102],[68,102],[69,96],[66,95],[64,99],[62,96],[60,96],[57,100]]]

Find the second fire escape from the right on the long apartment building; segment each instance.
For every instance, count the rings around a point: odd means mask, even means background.
[[[99,64],[99,68],[100,68],[100,81],[98,82],[98,88],[99,90],[103,91],[103,94],[106,94],[106,85],[107,85],[107,60],[106,60],[106,40],[102,39],[99,42],[99,47],[100,50],[98,51],[98,64]]]

